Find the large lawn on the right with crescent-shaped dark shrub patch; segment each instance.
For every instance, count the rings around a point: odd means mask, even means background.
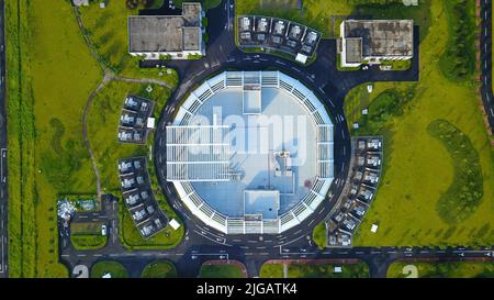
[[[356,246],[475,246],[494,242],[494,152],[473,79],[450,81],[439,69],[438,58],[449,42],[448,22],[441,18],[445,13],[444,1],[430,2],[430,27],[420,44],[418,84],[378,82],[371,95],[366,95],[364,85],[345,100],[349,125],[356,120],[363,124],[357,133],[384,136],[383,176],[355,236]],[[413,98],[398,102],[397,110],[385,115],[378,112],[386,103],[395,103],[390,95],[407,91],[413,92]],[[373,105],[373,101],[378,104]],[[369,108],[367,123],[360,115],[363,108]],[[461,141],[454,148],[430,133],[437,120],[454,127],[457,137],[449,140]],[[454,162],[458,155],[473,163],[472,169],[459,168],[464,162]],[[465,179],[470,173],[476,174],[473,181]],[[462,197],[475,199],[471,202],[474,205],[469,204],[460,220],[451,222],[445,211],[454,211]],[[370,232],[373,223],[379,224],[375,234]]]

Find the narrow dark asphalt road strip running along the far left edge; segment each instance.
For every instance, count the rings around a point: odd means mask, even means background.
[[[0,1],[0,278],[8,277],[4,2]]]

